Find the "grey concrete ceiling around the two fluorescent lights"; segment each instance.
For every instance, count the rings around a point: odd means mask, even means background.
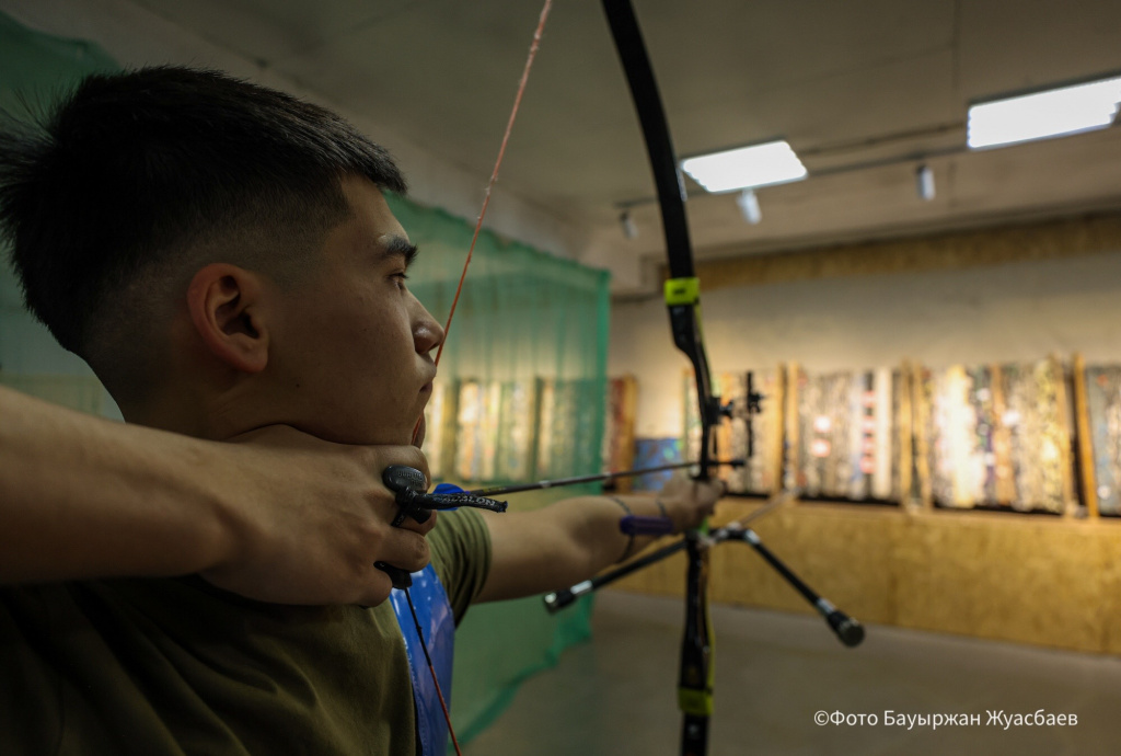
[[[130,1],[392,123],[480,185],[540,11],[527,0]],[[784,137],[809,169],[759,191],[758,225],[733,196],[691,184],[698,257],[1121,209],[1121,129],[964,150],[971,100],[1121,71],[1117,0],[634,4],[680,155]],[[915,190],[924,160],[932,202]],[[617,270],[660,259],[638,121],[597,2],[556,1],[502,185],[580,230],[584,248],[562,251]],[[621,204],[636,205],[633,240]],[[623,275],[619,289],[649,284]]]

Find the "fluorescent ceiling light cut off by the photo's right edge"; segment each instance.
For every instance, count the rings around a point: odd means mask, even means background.
[[[970,108],[972,149],[1104,129],[1121,102],[1121,77],[994,100]]]

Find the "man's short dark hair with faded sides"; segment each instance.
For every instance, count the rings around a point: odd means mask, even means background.
[[[0,129],[0,223],[28,308],[108,386],[183,264],[282,278],[346,216],[345,175],[405,191],[385,149],[318,105],[215,71],[99,74]]]

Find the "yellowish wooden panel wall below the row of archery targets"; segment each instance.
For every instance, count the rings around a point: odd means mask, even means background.
[[[714,522],[759,506],[725,499]],[[798,504],[753,525],[861,621],[1121,654],[1121,523]],[[682,596],[684,575],[682,556],[619,587]],[[745,544],[716,547],[710,586],[714,601],[813,614]]]

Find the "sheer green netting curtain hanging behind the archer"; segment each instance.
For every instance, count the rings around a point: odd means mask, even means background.
[[[89,73],[117,67],[96,45],[44,35],[0,13],[0,105],[9,111],[20,110],[17,93],[49,99]],[[444,322],[473,224],[407,199],[389,201],[421,249],[409,286]],[[0,332],[9,338],[0,338],[0,352],[65,354],[21,311],[10,276],[6,278]],[[481,234],[437,379],[446,405],[458,405],[457,412],[445,413],[445,426],[429,431],[438,448],[426,442],[442,478],[512,480],[599,470],[608,292],[603,271]],[[24,388],[36,393],[34,386]],[[464,432],[460,421],[470,421],[471,406],[458,399],[471,390],[490,396],[492,412]],[[511,507],[535,508],[577,492],[519,495]],[[492,721],[522,680],[587,636],[590,609],[585,602],[553,618],[537,598],[471,609],[456,635],[452,693],[462,740]]]

